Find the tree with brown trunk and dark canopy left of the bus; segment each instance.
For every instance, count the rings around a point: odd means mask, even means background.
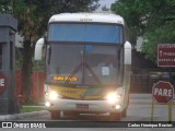
[[[19,33],[23,41],[23,93],[26,99],[32,87],[32,57],[36,40],[47,29],[49,17],[62,12],[93,11],[98,0],[0,0],[0,13],[10,13],[19,22]]]

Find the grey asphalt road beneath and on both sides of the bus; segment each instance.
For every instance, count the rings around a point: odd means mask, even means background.
[[[131,94],[130,105],[127,110],[127,117],[122,118],[121,121],[151,121],[152,112],[152,97],[151,94]],[[175,121],[175,106],[173,106],[173,117],[172,120]],[[107,121],[107,115],[104,116],[92,116],[82,115],[80,118],[73,117],[62,117],[59,121]],[[49,121],[50,114],[46,112],[42,116],[33,116],[24,118],[22,120],[44,120]],[[154,121],[168,121],[168,106],[154,104],[153,109],[153,120]]]

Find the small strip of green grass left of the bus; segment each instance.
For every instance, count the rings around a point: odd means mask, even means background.
[[[21,108],[21,112],[32,112],[32,111],[40,111],[40,110],[45,110],[45,108],[42,106],[23,106]]]

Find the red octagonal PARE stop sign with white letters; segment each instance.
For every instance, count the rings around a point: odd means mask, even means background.
[[[170,82],[159,81],[152,88],[152,97],[159,104],[168,104],[174,98],[174,87]]]

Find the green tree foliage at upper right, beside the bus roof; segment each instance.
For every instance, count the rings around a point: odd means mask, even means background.
[[[175,43],[175,0],[118,0],[112,10],[127,21],[133,44],[144,38],[148,59],[156,62],[158,44]]]

